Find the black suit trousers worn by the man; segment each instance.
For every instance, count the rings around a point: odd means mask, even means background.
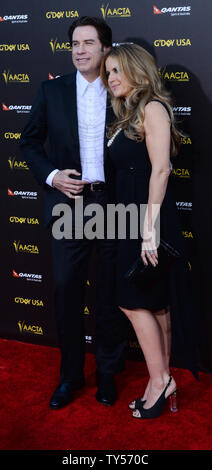
[[[107,192],[89,191],[83,197],[84,209],[98,203],[106,211]],[[75,208],[72,208],[74,231]],[[83,223],[89,217],[84,217]],[[105,220],[106,229],[106,220]],[[52,236],[55,314],[61,348],[61,381],[73,386],[84,379],[85,330],[84,298],[94,243],[97,251],[97,298],[95,356],[100,374],[115,374],[124,369],[126,318],[115,303],[116,241]]]

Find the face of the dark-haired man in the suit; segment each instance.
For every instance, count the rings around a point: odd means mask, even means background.
[[[109,48],[102,46],[94,26],[78,26],[72,36],[72,60],[79,72],[92,82],[99,76],[102,58]]]

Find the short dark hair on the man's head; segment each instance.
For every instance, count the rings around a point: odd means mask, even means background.
[[[112,30],[110,26],[108,26],[105,20],[95,16],[81,16],[79,19],[73,21],[68,30],[70,44],[72,44],[73,32],[78,26],[94,26],[102,45],[106,47],[112,46]]]

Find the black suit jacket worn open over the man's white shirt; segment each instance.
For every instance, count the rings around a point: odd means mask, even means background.
[[[107,102],[106,124],[114,120],[112,107]],[[45,142],[48,137],[50,151]],[[29,119],[23,129],[20,148],[35,179],[45,192],[44,223],[52,220],[55,204],[72,204],[73,200],[46,184],[51,171],[58,168],[81,172],[77,122],[76,72],[41,83],[32,105]],[[106,131],[104,138],[104,169],[106,183],[112,178],[112,166],[107,155]]]

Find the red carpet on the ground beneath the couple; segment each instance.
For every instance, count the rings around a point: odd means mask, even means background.
[[[86,357],[86,387],[63,410],[49,399],[57,385],[59,351],[0,340],[1,450],[211,450],[212,380],[172,369],[179,388],[179,412],[164,410],[155,420],[131,417],[128,402],[147,382],[143,363],[128,361],[117,376],[119,400],[104,407],[95,399],[95,359]]]

